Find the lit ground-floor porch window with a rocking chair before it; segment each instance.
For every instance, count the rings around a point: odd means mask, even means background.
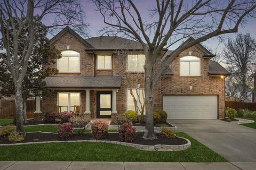
[[[74,112],[75,106],[80,106],[79,92],[59,92],[58,93],[59,112]]]

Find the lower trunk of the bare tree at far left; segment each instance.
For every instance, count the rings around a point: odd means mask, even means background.
[[[25,136],[25,130],[23,126],[23,98],[21,83],[15,83],[15,111],[16,111],[16,129],[18,132],[22,132]]]

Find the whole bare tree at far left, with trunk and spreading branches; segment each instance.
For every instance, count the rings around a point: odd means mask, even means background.
[[[46,16],[51,16],[49,23],[44,28],[36,29],[36,23],[44,21]],[[18,39],[25,25],[28,28],[28,38],[23,42],[22,55],[19,55],[21,47],[19,47]],[[71,25],[80,32],[85,31],[87,24],[84,22],[84,13],[78,0],[3,0],[0,2],[0,31],[4,49],[0,58],[12,75],[15,87],[16,126],[23,135],[25,131],[22,117],[22,82],[35,45],[34,35],[43,29],[56,29],[65,25]],[[10,37],[13,42],[10,42]],[[12,49],[10,49],[11,46],[13,46]]]

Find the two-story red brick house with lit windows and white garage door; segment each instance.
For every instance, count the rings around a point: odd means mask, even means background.
[[[111,36],[83,39],[69,27],[51,41],[62,52],[57,64],[49,65],[57,67],[59,74],[45,79],[55,96],[43,98],[42,112],[37,109],[35,120],[42,120],[46,112],[73,111],[77,106],[90,118],[115,118],[134,110],[129,89],[136,88],[135,81],[140,84],[140,94],[144,88],[145,55],[140,43]],[[126,66],[118,60],[122,50],[127,52]],[[155,87],[154,107],[164,109],[168,118],[224,117],[225,77],[230,73],[211,61],[213,56],[201,44],[183,51]]]

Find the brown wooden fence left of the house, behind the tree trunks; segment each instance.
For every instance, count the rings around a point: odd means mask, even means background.
[[[42,105],[42,100],[41,100]],[[27,118],[34,118],[35,100],[27,100]],[[41,107],[42,108],[42,107]],[[15,115],[15,101],[2,100],[2,107],[0,108],[0,118],[13,118]]]

